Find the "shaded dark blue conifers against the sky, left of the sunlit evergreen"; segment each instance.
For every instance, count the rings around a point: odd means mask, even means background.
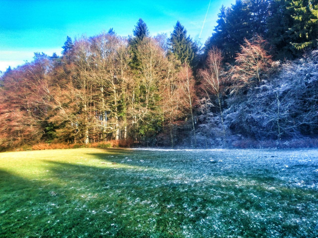
[[[266,32],[268,0],[237,0],[231,8],[221,7],[214,33],[205,43],[205,55],[218,47],[224,53],[225,62],[234,62],[244,39],[252,39]]]

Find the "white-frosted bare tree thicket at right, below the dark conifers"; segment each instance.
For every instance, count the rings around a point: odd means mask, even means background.
[[[226,123],[257,139],[315,135],[318,126],[318,52],[281,65],[280,73],[249,89],[239,103],[227,100]]]

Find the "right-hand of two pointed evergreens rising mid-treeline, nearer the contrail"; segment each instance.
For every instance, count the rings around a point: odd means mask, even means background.
[[[170,51],[176,56],[176,59],[181,63],[188,63],[192,65],[194,59],[193,42],[190,36],[187,36],[187,30],[177,21],[170,39]]]

